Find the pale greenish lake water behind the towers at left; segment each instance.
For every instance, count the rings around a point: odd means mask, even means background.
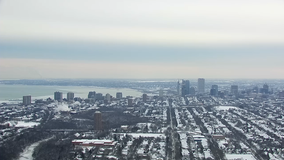
[[[122,92],[123,97],[141,97],[143,93],[129,88],[104,88],[95,86],[44,86],[44,85],[3,85],[0,84],[0,101],[22,100],[24,95],[31,95],[32,100],[41,98],[52,98],[56,91],[63,92],[63,98],[67,92],[74,92],[75,97],[87,98],[89,91],[114,96],[116,92]]]

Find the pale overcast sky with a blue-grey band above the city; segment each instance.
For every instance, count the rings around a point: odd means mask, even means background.
[[[1,0],[0,79],[284,79],[283,0]]]

